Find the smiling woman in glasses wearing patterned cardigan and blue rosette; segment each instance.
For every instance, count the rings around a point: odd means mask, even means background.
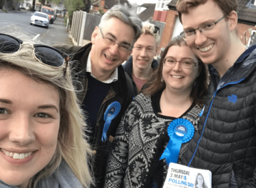
[[[181,163],[197,131],[207,73],[181,36],[166,46],[146,85],[118,126],[105,187],[162,187],[168,164]]]

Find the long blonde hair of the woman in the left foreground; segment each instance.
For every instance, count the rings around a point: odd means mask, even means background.
[[[35,43],[33,40],[27,40],[27,34],[8,34],[23,42]],[[53,85],[60,94],[60,129],[55,154],[47,166],[30,180],[29,187],[36,187],[41,178],[50,176],[63,159],[71,167],[81,185],[90,187],[93,180],[88,161],[92,152],[86,142],[86,123],[78,105],[71,70],[68,68],[64,76],[64,68],[51,68],[41,64],[34,58],[33,50],[29,44],[23,44],[16,53],[0,53],[0,69],[18,70],[35,81]]]

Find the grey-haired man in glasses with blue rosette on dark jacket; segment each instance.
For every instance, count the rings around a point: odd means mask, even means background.
[[[120,119],[131,103],[133,86],[121,64],[131,55],[133,44],[141,34],[142,22],[127,5],[114,5],[105,12],[91,43],[77,50],[72,60],[82,88],[77,93],[90,127],[89,142],[94,160],[96,187],[103,187],[105,165]],[[56,47],[56,46],[55,46]],[[59,46],[75,52],[74,46]]]

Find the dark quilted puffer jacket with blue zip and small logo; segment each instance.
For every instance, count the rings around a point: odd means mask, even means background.
[[[218,81],[211,82],[199,131],[182,163],[212,172],[212,187],[256,187],[256,45],[247,49]]]

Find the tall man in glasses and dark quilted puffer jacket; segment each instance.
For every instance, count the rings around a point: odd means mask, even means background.
[[[256,46],[242,44],[236,0],[179,0],[181,36],[208,65],[199,131],[183,164],[212,172],[212,187],[256,187]]]

